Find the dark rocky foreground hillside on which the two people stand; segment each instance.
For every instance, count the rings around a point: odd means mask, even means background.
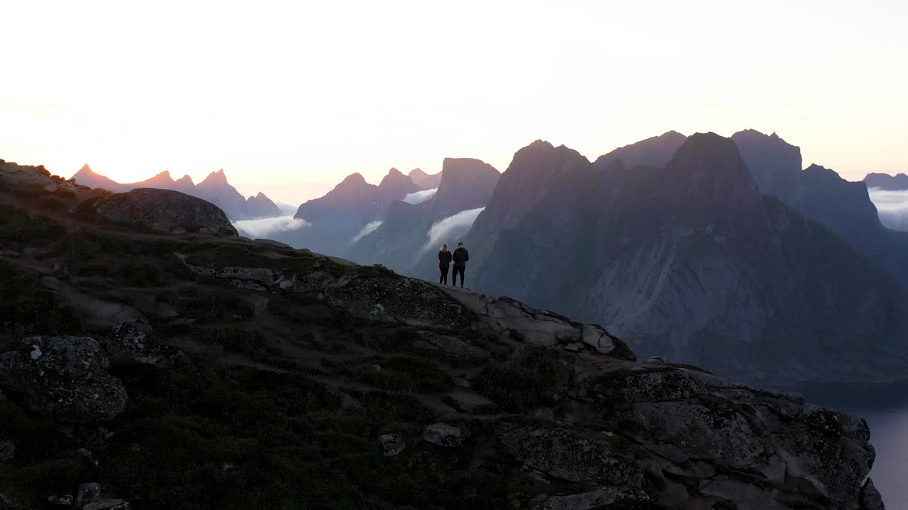
[[[882,507],[860,418],[172,193],[0,166],[0,508]]]

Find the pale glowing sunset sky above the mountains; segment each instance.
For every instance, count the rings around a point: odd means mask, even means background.
[[[901,2],[0,0],[0,158],[163,170],[297,204],[351,172],[504,171],[669,130],[778,132],[844,177],[908,172]]]

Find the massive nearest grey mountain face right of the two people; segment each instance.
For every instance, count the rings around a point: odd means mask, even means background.
[[[908,369],[895,360],[908,333],[900,289],[761,197],[735,144],[715,134],[688,138],[665,169],[552,181],[500,231],[479,288],[607,325],[644,356],[765,384]],[[866,347],[857,356],[854,338]]]

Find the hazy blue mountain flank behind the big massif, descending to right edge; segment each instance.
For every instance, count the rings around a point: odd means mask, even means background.
[[[822,223],[908,289],[908,233],[883,227],[864,182],[845,181],[815,164],[798,171],[800,149],[775,133],[766,136],[748,130],[735,133],[732,140],[762,193],[774,195],[808,220]]]

